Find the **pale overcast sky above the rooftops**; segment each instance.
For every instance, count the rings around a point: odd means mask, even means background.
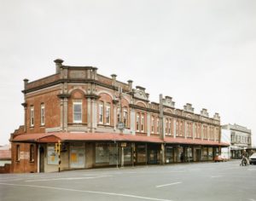
[[[221,124],[252,129],[256,145],[256,1],[0,0],[0,145],[24,123],[23,79],[53,60],[172,96]]]

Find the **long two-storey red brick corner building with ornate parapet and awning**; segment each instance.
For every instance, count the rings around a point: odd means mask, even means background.
[[[12,172],[58,171],[58,141],[61,170],[211,161],[228,146],[218,113],[177,109],[169,96],[150,102],[143,87],[111,77],[58,59],[54,75],[25,79],[24,125],[10,138]]]

